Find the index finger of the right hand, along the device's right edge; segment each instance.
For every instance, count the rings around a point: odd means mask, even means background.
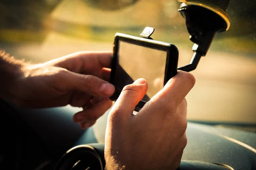
[[[151,102],[158,107],[174,106],[177,107],[195,85],[195,77],[185,71],[178,71],[161,91],[151,98]]]

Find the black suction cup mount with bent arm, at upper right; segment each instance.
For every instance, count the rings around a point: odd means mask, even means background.
[[[198,2],[184,1],[178,11],[186,20],[189,39],[195,43],[192,47],[194,55],[190,63],[178,68],[189,72],[195,70],[201,57],[207,54],[216,32],[230,28],[230,19],[221,8]]]

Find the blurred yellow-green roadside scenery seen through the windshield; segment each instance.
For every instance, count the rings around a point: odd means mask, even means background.
[[[154,40],[177,46],[182,66],[193,43],[179,6],[177,0],[0,0],[0,49],[39,63],[112,50],[116,32],[139,36],[150,26]],[[197,82],[186,97],[189,121],[256,127],[255,8],[255,0],[231,0],[230,30],[217,34],[192,71]]]

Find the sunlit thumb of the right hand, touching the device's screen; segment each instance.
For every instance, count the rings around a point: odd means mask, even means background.
[[[131,85],[126,85],[111,109],[112,114],[121,113],[120,116],[125,115],[125,118],[132,115],[135,106],[143,99],[147,90],[148,83],[143,78],[137,79]]]

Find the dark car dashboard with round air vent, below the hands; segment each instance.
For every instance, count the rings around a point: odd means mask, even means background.
[[[1,101],[0,109],[0,167],[7,164],[13,166],[9,169],[104,168],[108,113],[93,127],[81,130],[72,121],[76,108],[70,106],[21,109]],[[256,133],[188,122],[186,135],[188,143],[179,170],[256,169]]]

